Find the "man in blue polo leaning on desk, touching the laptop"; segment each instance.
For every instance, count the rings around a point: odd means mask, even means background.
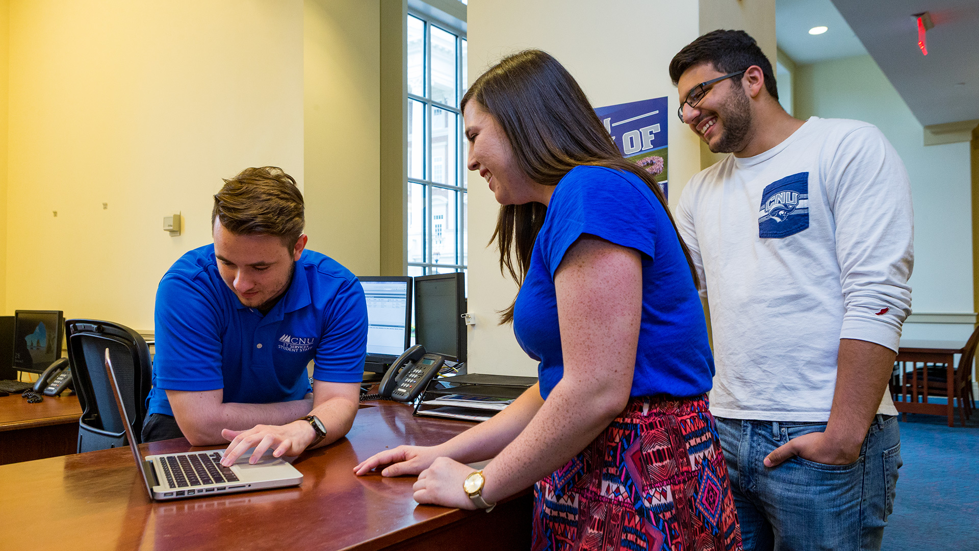
[[[350,430],[367,343],[360,282],[305,250],[303,195],[275,167],[214,195],[214,243],[163,275],[143,440],[299,455]],[[314,361],[309,388],[306,365]]]

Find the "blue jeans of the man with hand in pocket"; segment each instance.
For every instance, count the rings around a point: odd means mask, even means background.
[[[771,469],[762,463],[771,450],[826,424],[717,422],[745,551],[880,549],[901,467],[896,417],[874,418],[850,465],[793,457]]]

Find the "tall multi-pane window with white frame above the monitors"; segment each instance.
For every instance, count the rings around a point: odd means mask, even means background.
[[[464,32],[408,15],[407,275],[465,271]]]

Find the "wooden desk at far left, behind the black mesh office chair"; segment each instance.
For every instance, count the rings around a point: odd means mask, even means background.
[[[0,465],[68,455],[78,448],[78,396],[45,396],[28,404],[20,394],[0,397]]]

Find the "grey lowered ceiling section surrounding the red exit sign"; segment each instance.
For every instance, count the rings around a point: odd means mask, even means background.
[[[979,1],[833,0],[833,4],[921,125],[979,119]],[[928,55],[923,56],[911,15],[926,10],[935,27],[927,33]]]

